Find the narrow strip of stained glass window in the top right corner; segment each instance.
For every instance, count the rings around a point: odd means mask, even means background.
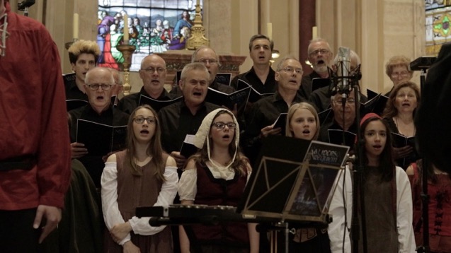
[[[451,41],[451,1],[426,1],[426,54],[437,55],[445,42]]]

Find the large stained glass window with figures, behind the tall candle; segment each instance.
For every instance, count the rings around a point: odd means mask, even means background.
[[[129,44],[136,47],[130,71],[137,71],[149,54],[184,49],[195,17],[195,4],[192,0],[98,0],[98,66],[119,69],[124,61],[116,46],[124,42],[125,14]]]

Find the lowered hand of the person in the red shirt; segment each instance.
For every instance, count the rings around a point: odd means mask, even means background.
[[[61,220],[61,208],[39,205],[38,210],[36,211],[35,221],[33,222],[33,228],[39,228],[42,217],[45,218],[45,224],[43,224],[41,228],[42,231],[39,237],[39,243],[41,243],[50,232],[57,228],[59,220]]]

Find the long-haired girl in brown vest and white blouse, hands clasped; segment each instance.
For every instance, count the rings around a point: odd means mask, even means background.
[[[102,174],[105,252],[173,252],[171,229],[137,218],[137,206],[173,204],[176,161],[163,152],[156,112],[137,107],[127,124],[127,149],[110,155]]]

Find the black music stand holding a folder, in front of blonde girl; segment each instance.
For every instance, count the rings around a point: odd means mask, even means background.
[[[257,216],[325,228],[333,182],[346,162],[348,146],[268,136],[237,208],[244,216]],[[285,252],[288,226],[285,225]]]

